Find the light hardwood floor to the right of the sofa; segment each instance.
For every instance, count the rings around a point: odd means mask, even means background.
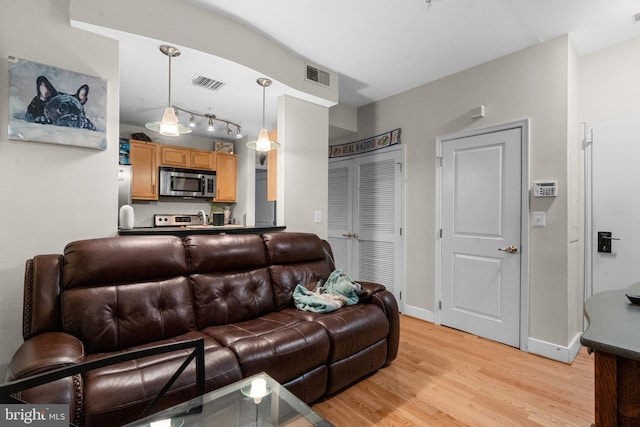
[[[313,410],[341,426],[590,426],[593,360],[529,354],[401,315],[391,365]]]

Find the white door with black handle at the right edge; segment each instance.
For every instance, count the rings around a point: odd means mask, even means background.
[[[640,281],[640,117],[592,123],[587,135],[592,220],[591,251],[585,252],[591,256],[592,293],[597,293]],[[598,248],[602,232],[619,240],[601,238]]]

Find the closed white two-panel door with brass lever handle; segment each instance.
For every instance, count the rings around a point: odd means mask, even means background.
[[[519,347],[522,129],[441,152],[441,323]]]

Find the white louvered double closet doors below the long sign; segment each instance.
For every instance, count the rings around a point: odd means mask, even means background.
[[[336,268],[381,283],[402,306],[402,150],[329,162],[329,243]]]

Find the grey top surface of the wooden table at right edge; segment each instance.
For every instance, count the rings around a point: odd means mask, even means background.
[[[595,351],[640,360],[640,305],[631,304],[625,293],[640,294],[640,282],[587,300],[584,312],[589,326],[580,342]]]

